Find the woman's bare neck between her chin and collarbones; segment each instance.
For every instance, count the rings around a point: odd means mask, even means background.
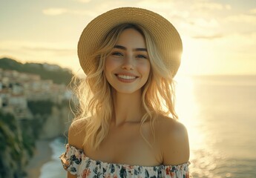
[[[118,93],[114,91],[114,125],[140,122],[143,115],[141,96],[141,90],[134,93]]]

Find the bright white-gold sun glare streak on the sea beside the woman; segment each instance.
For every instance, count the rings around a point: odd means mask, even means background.
[[[203,120],[198,119],[199,106],[194,99],[194,82],[189,77],[180,77],[177,79],[176,86],[176,111],[180,122],[186,125],[190,144],[190,169],[193,172],[200,174],[200,171],[209,165],[209,151],[206,145],[206,135],[202,134]],[[197,159],[203,157],[203,159]],[[195,167],[195,165],[200,165]],[[210,170],[210,169],[209,169]],[[209,171],[205,171],[209,174]]]

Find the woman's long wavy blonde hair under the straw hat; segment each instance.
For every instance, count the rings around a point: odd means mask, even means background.
[[[154,135],[154,121],[157,116],[171,116],[177,119],[174,111],[174,82],[171,71],[165,67],[163,59],[154,43],[154,36],[137,24],[120,24],[105,36],[99,50],[91,56],[93,65],[85,79],[79,81],[74,88],[79,100],[75,119],[86,119],[84,144],[98,148],[108,133],[110,121],[114,113],[111,85],[104,74],[105,58],[114,48],[120,33],[133,28],[145,38],[148,56],[151,63],[151,73],[142,88],[142,109],[145,110],[141,119],[142,124],[149,119]],[[104,96],[104,97],[102,97]],[[140,131],[142,134],[142,131]],[[142,137],[145,139],[145,136]],[[145,142],[148,142],[145,139]],[[149,143],[149,142],[148,142]]]

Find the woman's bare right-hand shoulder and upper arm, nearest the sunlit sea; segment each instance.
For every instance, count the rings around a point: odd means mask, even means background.
[[[185,125],[176,119],[160,116],[156,131],[164,165],[180,165],[188,162],[189,142]]]

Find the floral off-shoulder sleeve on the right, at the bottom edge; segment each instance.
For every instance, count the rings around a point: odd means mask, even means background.
[[[188,165],[190,162],[184,163],[182,165],[165,165],[164,170],[162,172],[163,177],[170,178],[191,178],[189,174]]]

